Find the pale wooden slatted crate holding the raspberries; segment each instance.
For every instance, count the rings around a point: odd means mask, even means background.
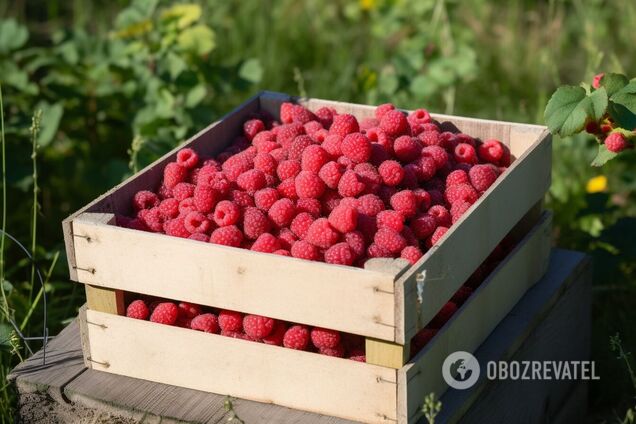
[[[290,97],[264,92],[185,146],[220,153],[259,111]],[[358,119],[374,107],[293,99]],[[69,270],[86,285],[83,350],[90,368],[272,402],[364,422],[414,422],[423,397],[446,389],[441,364],[474,351],[545,272],[551,139],[544,127],[432,115],[442,128],[499,139],[513,162],[417,263],[370,259],[364,269],[167,237],[112,225],[155,188],[171,152],[64,221]],[[506,235],[518,243],[423,350],[410,341]],[[366,363],[127,318],[125,293],[259,314],[363,336]]]

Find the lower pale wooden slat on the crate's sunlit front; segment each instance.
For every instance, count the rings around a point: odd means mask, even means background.
[[[396,419],[392,369],[91,310],[86,319],[95,370],[347,419]]]

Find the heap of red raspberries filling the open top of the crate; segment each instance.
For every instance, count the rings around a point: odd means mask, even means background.
[[[283,103],[215,158],[189,148],[118,225],[339,265],[415,263],[510,164],[497,140],[383,104],[358,121]]]

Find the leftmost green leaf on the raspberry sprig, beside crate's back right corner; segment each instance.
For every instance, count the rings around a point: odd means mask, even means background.
[[[550,132],[565,137],[583,129],[593,114],[592,109],[592,99],[587,97],[585,89],[566,85],[554,92],[544,116]]]

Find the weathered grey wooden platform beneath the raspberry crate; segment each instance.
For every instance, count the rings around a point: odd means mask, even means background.
[[[588,358],[589,293],[589,261],[580,253],[554,250],[546,276],[480,346],[477,358],[480,361]],[[19,389],[20,402],[35,402],[33,394],[40,392],[50,394],[59,403],[69,403],[51,407],[52,412],[37,422],[227,420],[224,396],[87,370],[75,322],[49,344],[46,366],[42,366],[38,355],[16,367],[10,375]],[[574,382],[527,383],[481,380],[468,391],[448,391],[442,397],[444,407],[436,422],[519,422],[522,418],[523,422],[537,422],[539,417],[553,417],[550,422],[565,423],[585,413],[584,386]],[[547,408],[545,399],[549,399]],[[233,404],[246,423],[351,423],[242,399],[235,399]],[[530,415],[529,411],[535,409],[543,415]],[[55,411],[63,413],[53,416]],[[73,413],[77,415],[73,417]]]

